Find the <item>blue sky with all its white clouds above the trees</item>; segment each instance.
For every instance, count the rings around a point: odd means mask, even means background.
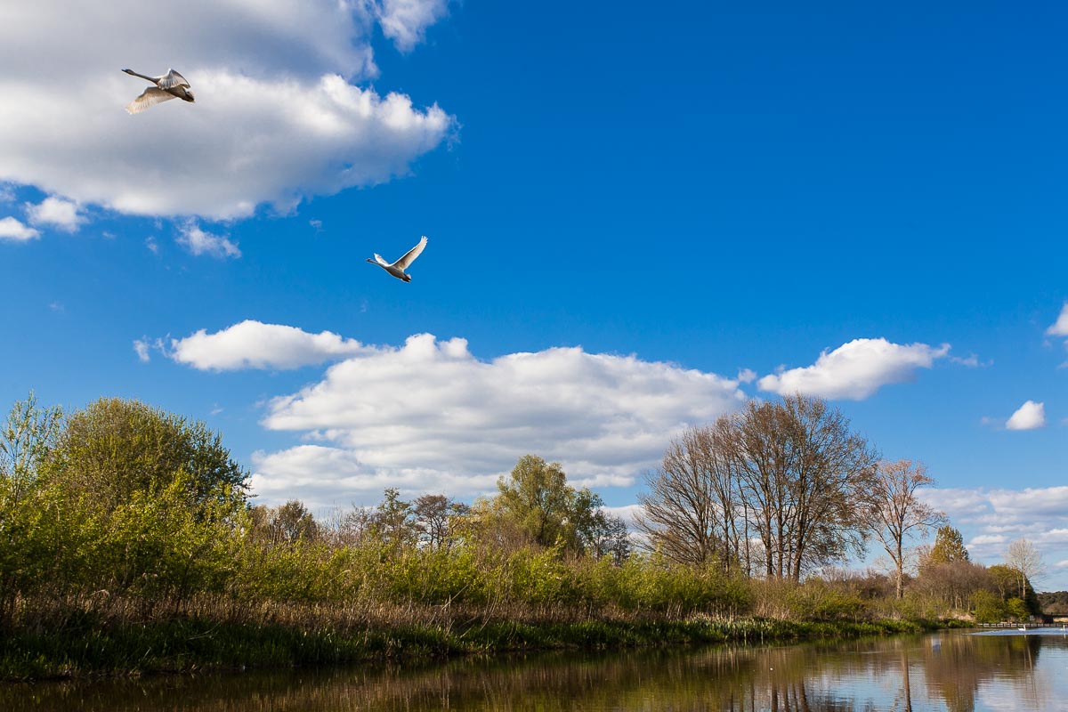
[[[625,508],[801,390],[1068,588],[1068,12],[142,5],[0,9],[0,402],[204,420],[267,503],[534,452]]]

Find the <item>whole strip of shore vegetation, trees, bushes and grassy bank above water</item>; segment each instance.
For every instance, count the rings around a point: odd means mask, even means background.
[[[218,433],[138,401],[63,413],[31,394],[0,428],[7,680],[758,644],[1039,613],[1025,557],[969,561],[915,496],[922,466],[881,462],[818,399],[680,436],[647,476],[637,533],[533,455],[472,504],[388,489],[316,520],[297,501],[255,504]],[[933,547],[906,547],[936,528]],[[871,541],[884,571],[835,568]]]

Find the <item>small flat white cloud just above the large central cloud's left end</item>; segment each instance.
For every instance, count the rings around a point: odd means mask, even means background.
[[[370,350],[358,341],[329,331],[312,334],[296,327],[248,319],[214,334],[201,329],[185,338],[171,339],[169,355],[201,370],[285,369]]]

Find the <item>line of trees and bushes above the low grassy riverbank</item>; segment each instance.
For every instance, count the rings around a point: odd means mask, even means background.
[[[256,504],[248,477],[201,422],[119,398],[64,413],[31,394],[0,429],[0,624],[115,601],[143,615],[206,600],[522,616],[1035,608],[1025,560],[965,570],[942,529],[913,574],[910,536],[945,524],[917,496],[932,480],[880,461],[820,399],[751,402],[685,431],[646,477],[637,532],[536,455],[471,504],[387,489],[321,519],[296,500]],[[873,539],[889,575],[833,568]]]

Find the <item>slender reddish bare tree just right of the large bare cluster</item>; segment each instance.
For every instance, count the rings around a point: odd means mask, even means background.
[[[905,579],[905,539],[911,532],[923,532],[945,522],[943,512],[916,496],[916,490],[934,484],[923,463],[909,460],[881,462],[873,481],[870,496],[873,528],[895,567],[895,588],[902,598]]]

